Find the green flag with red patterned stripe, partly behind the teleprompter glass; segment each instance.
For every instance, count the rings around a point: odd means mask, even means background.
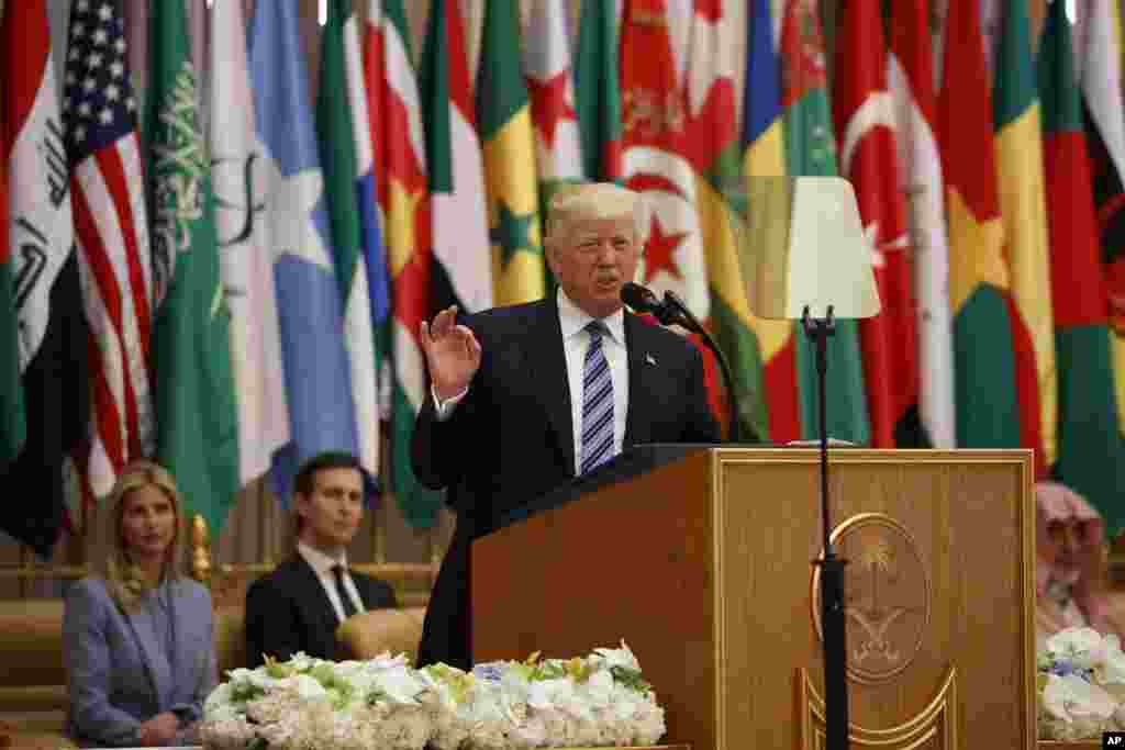
[[[785,162],[790,174],[826,177],[838,173],[824,49],[817,3],[786,3],[781,58]],[[802,433],[803,437],[811,440],[819,435],[820,430],[816,352],[800,331],[794,343]],[[828,340],[828,434],[862,445],[870,443],[863,358],[855,320],[836,322],[836,335]]]

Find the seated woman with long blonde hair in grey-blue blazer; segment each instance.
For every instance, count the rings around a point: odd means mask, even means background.
[[[99,508],[97,575],[66,596],[68,731],[99,747],[192,744],[215,687],[210,594],[181,572],[180,497],[151,461]]]

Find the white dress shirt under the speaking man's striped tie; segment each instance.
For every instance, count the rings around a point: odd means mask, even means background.
[[[593,316],[583,311],[559,287],[557,295],[559,304],[559,327],[562,331],[562,350],[566,354],[567,383],[570,386],[570,424],[574,427],[574,475],[582,473],[582,397],[583,369],[586,363],[586,351],[590,349],[590,332],[586,325]],[[602,336],[602,353],[610,365],[610,380],[613,382],[613,455],[621,452],[626,436],[626,417],[629,409],[629,355],[626,350],[626,314],[619,309],[613,315],[602,318],[609,329],[608,336]],[[433,398],[434,412],[439,422],[448,419],[453,408],[469,392],[466,388],[457,396],[444,401],[438,398],[438,390],[431,386],[430,397]],[[331,573],[330,573],[331,575]]]

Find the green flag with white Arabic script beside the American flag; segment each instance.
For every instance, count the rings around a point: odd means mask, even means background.
[[[238,491],[231,314],[183,3],[152,6],[146,128],[156,457],[217,535]]]

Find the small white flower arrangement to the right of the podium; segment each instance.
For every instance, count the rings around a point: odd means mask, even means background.
[[[1069,627],[1036,656],[1041,740],[1100,739],[1125,730],[1125,653],[1116,635]]]

